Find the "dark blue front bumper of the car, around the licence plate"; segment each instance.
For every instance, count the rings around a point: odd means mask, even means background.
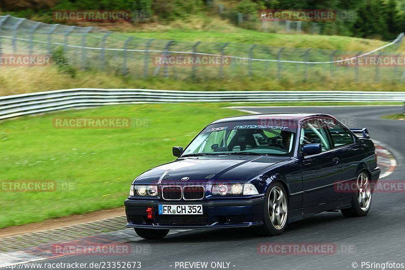
[[[250,200],[163,202],[153,200],[125,201],[127,227],[155,229],[208,229],[250,227],[263,224],[264,197]],[[203,215],[159,215],[159,204],[201,204]],[[153,218],[146,209],[153,208]]]

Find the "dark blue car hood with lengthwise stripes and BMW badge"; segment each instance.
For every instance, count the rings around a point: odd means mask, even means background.
[[[259,171],[287,159],[289,157],[270,156],[184,158],[146,171],[135,181],[137,184],[204,184],[214,180],[244,182]]]

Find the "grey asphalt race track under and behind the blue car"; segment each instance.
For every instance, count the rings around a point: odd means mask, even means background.
[[[388,148],[397,160],[395,171],[382,179],[404,180],[405,121],[383,120],[382,115],[402,112],[401,106],[363,107],[246,107],[245,110],[265,112],[322,112],[335,115],[350,128],[367,127],[372,139]],[[202,127],[201,127],[202,128]],[[148,241],[138,238],[131,229],[125,230],[128,243],[148,247],[149,252],[130,255],[72,255],[48,259],[47,263],[91,263],[140,261],[141,269],[186,269],[179,262],[229,262],[222,268],[230,269],[366,269],[361,262],[405,264],[405,194],[378,192],[373,195],[371,211],[361,218],[344,218],[338,213],[321,213],[288,225],[278,237],[259,238],[247,229],[188,230],[174,232],[163,240]],[[131,237],[129,237],[131,236]],[[334,254],[269,255],[260,254],[260,243],[330,243]],[[177,262],[177,263],[176,263]],[[355,266],[355,264],[353,264]],[[200,269],[188,267],[187,269]],[[372,266],[372,265],[370,265]],[[379,269],[380,267],[368,267]],[[386,267],[387,268],[387,267]]]

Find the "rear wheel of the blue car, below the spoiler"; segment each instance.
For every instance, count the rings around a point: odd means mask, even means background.
[[[345,217],[366,216],[371,208],[371,177],[367,171],[361,171],[356,178],[356,190],[352,191],[351,207],[342,209]]]

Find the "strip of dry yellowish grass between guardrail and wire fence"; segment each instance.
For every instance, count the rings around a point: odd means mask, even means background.
[[[212,69],[212,68],[211,68]],[[226,70],[224,70],[226,71]],[[287,74],[288,75],[288,74]],[[274,77],[274,75],[273,75]],[[309,74],[311,79],[303,82],[299,78],[277,81],[270,77],[232,78],[216,80],[180,80],[174,78],[131,78],[98,71],[78,71],[76,78],[50,67],[0,67],[0,96],[69,88],[139,88],[189,91],[404,91],[405,84],[399,82],[348,81],[347,76],[336,75],[335,80],[323,79]],[[314,78],[314,80],[312,80]],[[319,78],[323,79],[319,81]]]

